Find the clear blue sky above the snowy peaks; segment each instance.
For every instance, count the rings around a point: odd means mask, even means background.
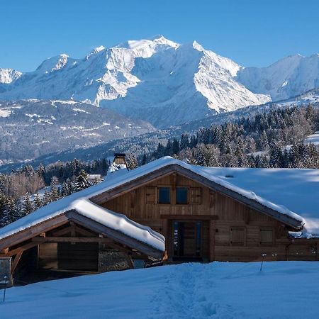
[[[162,34],[244,66],[319,52],[317,0],[0,0],[0,67],[31,71],[47,57]]]

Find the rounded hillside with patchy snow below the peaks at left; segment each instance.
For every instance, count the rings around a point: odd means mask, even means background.
[[[0,102],[0,164],[76,150],[155,130],[106,108],[74,101]]]

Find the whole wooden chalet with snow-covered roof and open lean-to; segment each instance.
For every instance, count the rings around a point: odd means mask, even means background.
[[[289,202],[285,194],[272,201],[262,183],[266,171],[248,172],[261,172],[259,187],[269,198],[238,186],[230,172],[249,182],[244,170],[196,167],[172,157],[110,173],[101,184],[0,229],[1,257],[12,257],[11,273],[25,252],[25,262],[37,269],[94,272],[103,271],[101,251],[108,250],[123,252],[130,267],[136,259],[318,260],[317,235],[307,233],[300,212],[281,206]]]

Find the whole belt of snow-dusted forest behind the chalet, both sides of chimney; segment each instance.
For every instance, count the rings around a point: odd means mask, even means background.
[[[159,142],[155,151],[135,157],[127,154],[130,169],[162,156],[211,167],[319,168],[319,150],[305,140],[319,130],[319,110],[279,108],[237,121],[201,128],[195,134]],[[136,145],[136,149],[141,145]],[[55,162],[38,168],[30,164],[10,174],[0,174],[0,227],[37,208],[91,186],[88,174],[106,174],[107,159]],[[107,178],[107,177],[106,177]],[[43,196],[37,193],[50,186]]]

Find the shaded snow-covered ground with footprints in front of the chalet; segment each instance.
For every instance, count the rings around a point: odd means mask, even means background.
[[[14,287],[0,302],[0,317],[318,318],[317,262],[265,262],[259,268],[180,264]]]

